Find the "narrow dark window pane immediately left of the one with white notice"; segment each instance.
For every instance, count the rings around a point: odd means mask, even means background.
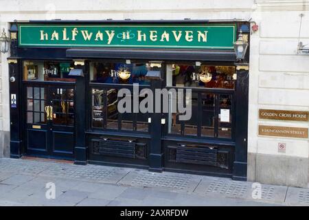
[[[201,136],[214,137],[215,95],[201,94],[201,97],[202,97]]]

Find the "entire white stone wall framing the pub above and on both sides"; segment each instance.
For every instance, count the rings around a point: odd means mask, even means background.
[[[27,21],[30,19],[181,20],[190,18],[222,21],[251,19],[255,21],[259,25],[259,30],[251,34],[249,73],[248,151],[253,157],[249,157],[248,177],[252,181],[264,181],[260,171],[256,172],[256,168],[261,169],[262,165],[259,165],[259,160],[255,155],[297,157],[308,160],[308,139],[258,136],[258,124],[305,128],[309,126],[308,122],[277,122],[258,119],[258,109],[262,108],[309,111],[309,55],[296,54],[299,14],[301,13],[305,14],[301,41],[309,44],[308,0],[0,0],[1,28],[7,28],[8,23],[15,19]],[[0,131],[1,129],[9,131],[6,55],[1,56],[1,61]],[[286,143],[285,154],[277,152],[278,142]],[[284,169],[284,166],[282,167]],[[273,169],[279,168],[273,167]],[[308,164],[301,169],[307,170],[308,173]],[[293,174],[288,172],[282,172],[282,175],[286,175],[283,179],[293,179]],[[297,185],[293,181],[282,181],[282,179],[275,183]]]

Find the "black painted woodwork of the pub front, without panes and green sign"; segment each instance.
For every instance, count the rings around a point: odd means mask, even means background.
[[[56,21],[31,21],[32,23],[57,23]],[[150,21],[59,21],[60,23],[148,23]],[[166,23],[182,23],[183,21],[165,21]],[[208,21],[185,21],[185,23],[205,23]],[[164,21],[151,21],[150,23],[164,23]],[[237,23],[240,25],[246,23]],[[17,32],[12,23],[12,32]],[[17,34],[18,36],[18,34]],[[108,87],[109,85],[91,84],[89,80],[90,61],[115,61],[132,59],[138,61],[203,61],[210,64],[236,65],[233,51],[194,51],[194,50],[95,50],[72,48],[38,48],[19,47],[18,39],[11,43],[11,56],[9,61],[10,94],[16,94],[16,108],[10,108],[11,157],[19,158],[22,155],[36,155],[38,157],[52,157],[72,159],[75,164],[104,164],[111,166],[128,166],[146,168],[150,171],[196,173],[201,175],[217,175],[232,177],[233,179],[247,179],[247,129],[248,129],[248,89],[249,70],[238,68],[236,88],[234,91],[224,89],[197,89],[198,92],[214,92],[216,94],[231,94],[234,108],[232,111],[233,133],[232,138],[212,137],[186,137],[185,135],[172,135],[167,132],[161,119],[166,118],[163,113],[151,113],[151,124],[148,133],[138,131],[109,131],[91,127],[91,88]],[[247,60],[249,52],[247,54]],[[77,76],[76,83],[66,82],[40,82],[31,83],[23,81],[23,61],[75,61],[82,60],[84,65],[76,65],[82,69],[85,76]],[[244,61],[246,63],[246,60]],[[165,68],[161,70],[162,80],[151,80],[149,88],[165,88]],[[121,87],[121,85],[117,85]],[[71,154],[50,153],[51,151],[30,151],[27,148],[29,138],[34,146],[41,143],[40,133],[54,135],[48,130],[50,127],[27,129],[25,119],[25,89],[27,87],[72,87],[74,89],[74,124],[73,128],[63,128],[57,132],[61,135],[53,141],[65,142],[68,138],[64,133],[71,133],[73,151]],[[217,112],[218,113],[218,112]],[[201,116],[201,112],[194,112]],[[35,131],[33,135],[25,132]],[[43,135],[44,136],[44,135]],[[42,137],[43,138],[43,137]],[[44,137],[45,138],[45,137]],[[44,139],[43,138],[43,139]],[[49,142],[51,139],[45,138]],[[52,149],[55,147],[52,146]],[[40,153],[41,152],[41,153]]]

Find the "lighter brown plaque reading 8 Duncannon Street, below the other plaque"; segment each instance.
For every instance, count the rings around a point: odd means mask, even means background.
[[[308,138],[308,128],[259,125],[259,135]]]

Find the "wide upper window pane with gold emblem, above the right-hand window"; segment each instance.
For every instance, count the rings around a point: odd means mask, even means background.
[[[174,87],[233,89],[236,68],[233,66],[167,65],[166,83]]]

